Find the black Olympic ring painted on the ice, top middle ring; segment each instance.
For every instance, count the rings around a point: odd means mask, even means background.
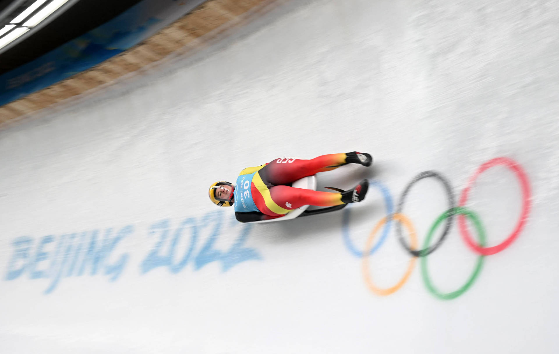
[[[450,185],[450,183],[448,183],[446,178],[444,178],[438,172],[425,171],[425,172],[421,172],[417,176],[415,176],[414,179],[411,180],[410,183],[408,183],[408,186],[406,186],[406,188],[404,189],[404,192],[402,192],[402,195],[400,196],[400,201],[398,202],[398,206],[396,207],[396,213],[397,214],[402,213],[402,209],[404,208],[404,200],[405,200],[406,196],[408,195],[408,192],[410,191],[411,186],[413,186],[415,183],[419,182],[420,180],[423,180],[423,178],[429,178],[429,177],[437,178],[437,180],[439,180],[441,183],[443,183],[444,189],[447,192],[448,210],[451,210],[454,206],[456,206],[454,204],[454,195],[452,194],[451,185]],[[402,230],[401,223],[396,223],[396,234],[398,235],[398,239],[399,239],[400,244],[402,245],[402,247],[404,247],[406,249],[406,251],[408,251],[412,256],[414,256],[414,257],[425,257],[428,254],[435,251],[435,249],[437,249],[440,246],[440,244],[443,242],[444,238],[447,236],[448,232],[451,229],[453,218],[454,218],[454,214],[449,216],[449,218],[446,220],[446,224],[444,225],[443,233],[440,235],[439,240],[435,244],[433,244],[432,246],[430,246],[428,248],[420,249],[419,251],[411,249],[410,246],[408,246],[408,244],[406,243],[406,241],[404,239],[404,232]]]

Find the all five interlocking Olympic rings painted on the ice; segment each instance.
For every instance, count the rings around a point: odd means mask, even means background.
[[[466,202],[468,200],[468,194],[470,193],[470,190],[473,186],[473,183],[476,181],[477,177],[479,177],[479,175],[481,173],[483,173],[486,169],[494,167],[494,166],[500,166],[500,165],[508,167],[511,171],[513,171],[514,174],[517,176],[519,182],[520,182],[520,188],[522,190],[522,199],[523,199],[522,212],[521,212],[521,215],[520,215],[520,219],[519,219],[517,225],[515,226],[515,229],[509,235],[509,237],[504,240],[504,242],[498,244],[497,246],[485,247],[485,243],[486,243],[486,241],[485,241],[485,229],[481,224],[480,218],[472,210],[467,209],[465,207],[465,205],[466,205]],[[402,214],[402,209],[403,209],[405,197],[408,195],[408,192],[409,192],[410,188],[416,182],[418,182],[419,180],[422,180],[423,178],[428,178],[428,177],[437,178],[439,181],[441,181],[443,183],[443,186],[444,186],[444,188],[447,192],[447,196],[448,196],[447,200],[448,200],[448,204],[449,204],[448,205],[449,209],[447,211],[445,211],[443,214],[441,214],[437,218],[437,220],[435,220],[435,222],[433,223],[433,225],[429,229],[427,237],[425,238],[425,241],[423,243],[423,249],[418,251],[417,250],[417,247],[418,247],[417,243],[418,242],[417,242],[417,237],[416,237],[416,233],[415,233],[415,230],[414,230],[414,226],[411,223],[411,221],[408,220],[408,218],[404,214]],[[351,253],[353,253],[355,256],[363,258],[362,272],[363,272],[363,278],[364,278],[365,283],[367,284],[367,287],[369,288],[369,290],[371,290],[372,292],[374,292],[375,294],[378,294],[378,295],[390,295],[390,294],[393,294],[394,292],[396,292],[397,290],[399,290],[405,284],[405,282],[408,281],[408,279],[411,275],[411,272],[413,271],[413,267],[415,265],[415,258],[416,257],[421,257],[422,258],[421,259],[421,277],[424,281],[425,287],[427,287],[427,290],[430,292],[430,294],[434,295],[435,297],[437,297],[439,299],[443,299],[443,300],[455,299],[458,296],[462,295],[464,292],[466,292],[468,289],[470,289],[473,282],[475,282],[475,280],[479,276],[479,274],[481,272],[482,265],[483,265],[484,256],[489,256],[490,254],[495,254],[495,253],[498,253],[500,251],[503,251],[503,249],[509,247],[510,244],[518,237],[520,232],[522,232],[522,230],[524,229],[524,226],[526,225],[526,223],[528,221],[528,216],[529,216],[529,213],[530,213],[530,206],[531,206],[531,198],[532,198],[528,177],[527,177],[527,174],[524,172],[524,169],[522,167],[520,167],[520,165],[517,162],[513,161],[512,159],[505,158],[505,157],[499,157],[499,158],[491,159],[490,161],[487,161],[484,164],[482,164],[477,169],[477,171],[473,174],[473,176],[470,177],[470,179],[468,180],[468,182],[466,184],[466,187],[462,191],[458,206],[454,205],[454,196],[453,196],[452,188],[451,188],[450,184],[448,183],[446,178],[444,178],[441,174],[439,174],[438,172],[435,172],[435,171],[421,172],[417,176],[415,176],[413,178],[413,180],[411,180],[411,182],[408,184],[408,186],[406,186],[406,188],[404,189],[404,192],[402,192],[402,195],[400,196],[400,201],[397,204],[396,212],[394,214],[392,213],[392,197],[390,196],[389,190],[378,181],[372,181],[371,185],[376,186],[381,190],[382,195],[383,195],[384,200],[385,200],[385,204],[386,204],[387,216],[385,216],[385,218],[382,218],[375,225],[375,227],[373,228],[373,230],[371,231],[371,234],[369,235],[369,237],[367,239],[367,243],[366,243],[366,246],[365,246],[363,252],[358,251],[358,249],[353,246],[353,243],[350,239],[350,235],[349,235],[349,214],[350,214],[350,211],[349,211],[349,208],[347,208],[344,211],[342,232],[343,232],[343,238],[344,238],[345,246],[349,249],[349,251]],[[446,238],[446,235],[448,234],[448,230],[451,227],[454,215],[457,215],[458,226],[459,226],[458,229],[459,229],[459,233],[462,236],[462,239],[465,240],[466,244],[471,249],[473,249],[476,253],[480,254],[480,257],[477,260],[477,263],[476,263],[476,266],[475,266],[475,268],[472,272],[472,275],[466,281],[465,285],[463,285],[460,289],[458,289],[456,291],[452,291],[452,292],[444,294],[442,292],[439,292],[435,288],[435,286],[433,285],[432,281],[429,279],[429,275],[428,275],[428,271],[427,271],[427,256],[428,256],[428,254],[434,252],[435,249],[437,249],[440,246],[440,244],[443,242],[443,240]],[[479,239],[478,244],[476,244],[473,241],[473,239],[470,235],[470,232],[467,229],[466,221],[465,221],[466,217],[472,221],[472,224],[477,231],[477,237]],[[387,289],[380,289],[377,286],[375,286],[373,284],[372,280],[371,280],[371,275],[370,275],[369,267],[368,267],[368,257],[371,254],[373,254],[374,252],[376,252],[377,249],[380,248],[382,246],[382,244],[385,242],[385,240],[386,240],[386,238],[387,238],[387,236],[390,232],[390,227],[391,227],[390,225],[392,224],[393,220],[397,224],[396,225],[396,230],[397,230],[397,235],[398,235],[400,243],[406,249],[406,251],[408,251],[411,254],[411,256],[413,256],[413,258],[411,258],[411,260],[410,260],[410,263],[408,265],[406,273],[404,274],[404,277],[402,277],[402,279],[399,282],[397,282],[397,284],[395,286],[389,287]],[[430,245],[430,240],[433,238],[435,230],[437,230],[439,225],[444,220],[447,220],[447,221],[446,221],[446,224],[444,226],[443,233],[440,235],[438,241],[435,244],[433,244],[432,246],[429,246]],[[408,230],[408,234],[409,234],[410,241],[411,241],[410,242],[411,246],[408,246],[408,244],[405,242],[404,237],[403,237],[403,233],[402,233],[402,230],[401,230],[402,228],[401,228],[400,224],[403,224],[404,227]],[[378,240],[378,242],[375,244],[374,247],[371,247],[371,244],[373,242],[373,239],[375,238],[375,235],[377,234],[378,230],[383,225],[384,225],[384,229],[383,229],[383,233],[381,235],[381,238]]]

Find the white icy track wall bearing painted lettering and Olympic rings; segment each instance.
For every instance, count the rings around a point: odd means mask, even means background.
[[[557,6],[288,2],[2,131],[0,351],[556,352]],[[352,150],[373,167],[318,176],[374,182],[343,212],[250,225],[208,200]],[[475,242],[514,240],[480,257],[454,218],[418,259],[382,224],[423,248],[459,204]]]

